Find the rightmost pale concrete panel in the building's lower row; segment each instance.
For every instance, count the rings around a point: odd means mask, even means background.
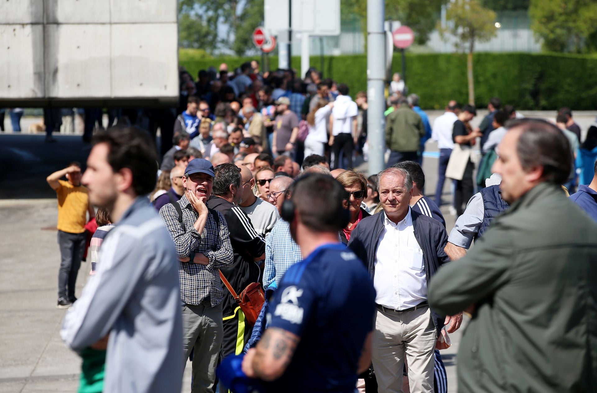
[[[112,95],[177,97],[178,26],[112,25]]]

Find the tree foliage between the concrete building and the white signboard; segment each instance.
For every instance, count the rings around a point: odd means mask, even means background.
[[[263,0],[180,0],[179,42],[210,54],[255,51],[253,30],[263,22]]]

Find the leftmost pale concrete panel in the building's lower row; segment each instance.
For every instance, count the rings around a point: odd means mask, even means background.
[[[0,97],[44,97],[43,32],[42,24],[0,24]]]

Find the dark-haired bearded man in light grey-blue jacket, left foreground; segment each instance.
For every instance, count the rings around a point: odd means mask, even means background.
[[[64,317],[69,348],[105,349],[104,392],[180,392],[184,364],[176,251],[144,196],[155,187],[155,148],[135,128],[94,135],[82,183],[116,227],[99,270]]]

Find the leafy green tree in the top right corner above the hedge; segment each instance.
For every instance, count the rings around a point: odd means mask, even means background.
[[[597,2],[531,0],[531,30],[553,52],[584,53],[597,49]]]

